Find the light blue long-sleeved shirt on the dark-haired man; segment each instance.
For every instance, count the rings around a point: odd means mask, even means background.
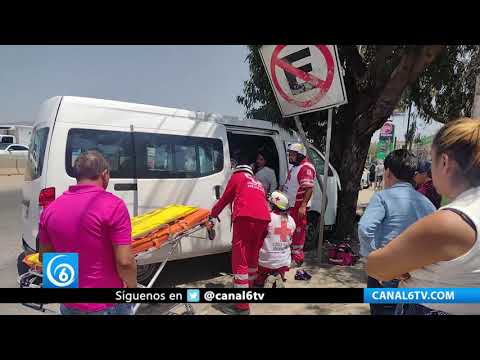
[[[358,223],[360,255],[387,245],[417,220],[436,211],[424,195],[407,182],[375,193]]]

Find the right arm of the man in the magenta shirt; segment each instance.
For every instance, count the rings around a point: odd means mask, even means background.
[[[117,205],[108,225],[118,276],[128,288],[136,288],[137,263],[132,252],[132,224],[123,201]]]

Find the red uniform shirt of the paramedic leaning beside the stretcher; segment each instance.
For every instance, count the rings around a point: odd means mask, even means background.
[[[270,221],[270,211],[262,184],[247,172],[236,172],[230,178],[222,197],[212,208],[212,217],[217,217],[233,202],[232,220],[249,217]]]

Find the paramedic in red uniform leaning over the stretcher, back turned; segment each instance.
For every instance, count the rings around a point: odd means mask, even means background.
[[[270,211],[262,184],[248,166],[248,157],[241,155],[227,188],[212,208],[211,217],[216,218],[233,203],[232,222],[232,272],[235,288],[248,288],[258,271],[258,256],[264,235],[270,222]],[[249,304],[220,306],[228,314],[250,313]]]

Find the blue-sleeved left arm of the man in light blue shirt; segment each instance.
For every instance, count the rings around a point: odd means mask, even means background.
[[[385,205],[378,194],[374,194],[358,223],[358,240],[362,256],[375,250],[375,233],[385,218]]]

